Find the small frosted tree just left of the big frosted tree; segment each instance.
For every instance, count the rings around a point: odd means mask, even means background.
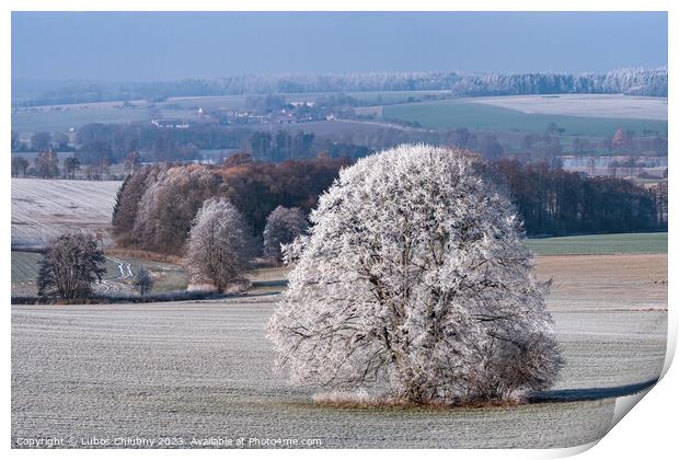
[[[307,231],[309,222],[300,208],[278,206],[266,218],[264,228],[264,256],[280,260],[281,244],[289,244]]]

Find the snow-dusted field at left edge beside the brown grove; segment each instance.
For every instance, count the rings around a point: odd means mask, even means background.
[[[105,231],[120,184],[12,179],[12,244],[39,245],[67,230]]]

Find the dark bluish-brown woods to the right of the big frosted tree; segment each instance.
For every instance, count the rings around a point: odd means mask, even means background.
[[[622,233],[666,230],[667,194],[631,181],[588,177],[516,160],[494,163],[506,183],[528,235]],[[660,191],[661,193],[661,191]]]

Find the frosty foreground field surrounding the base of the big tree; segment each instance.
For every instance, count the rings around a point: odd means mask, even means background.
[[[319,438],[329,448],[586,444],[608,430],[614,404],[587,399],[656,378],[665,356],[667,256],[607,257],[539,258],[541,276],[554,278],[550,308],[567,360],[543,395],[576,401],[516,407],[314,404],[313,389],[292,388],[272,371],[264,326],[280,286],[227,301],[14,306],[12,444],[39,436],[74,436],[77,444],[119,436]],[[606,269],[615,272],[600,274]]]

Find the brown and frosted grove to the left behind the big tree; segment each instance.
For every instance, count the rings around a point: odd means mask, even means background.
[[[113,232],[122,245],[177,254],[203,203],[223,197],[243,214],[254,235],[261,237],[276,207],[310,211],[346,164],[346,160],[326,158],[274,164],[239,154],[219,168],[143,166],[118,191]]]

